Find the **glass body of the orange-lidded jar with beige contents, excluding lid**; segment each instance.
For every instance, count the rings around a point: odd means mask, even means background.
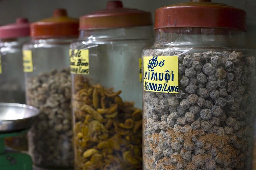
[[[27,104],[41,113],[28,132],[29,153],[37,166],[72,167],[69,44],[73,39],[32,40],[33,72],[26,72]]]

